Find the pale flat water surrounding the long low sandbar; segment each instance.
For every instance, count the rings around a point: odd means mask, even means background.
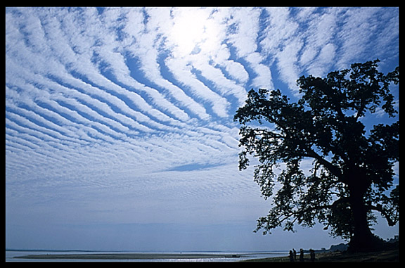
[[[281,257],[287,256],[287,251],[271,251],[271,252],[184,252],[187,254],[219,254],[219,255],[239,255],[240,257],[218,257],[218,258],[200,258],[200,259],[142,259],[142,260],[34,260],[34,259],[13,259],[16,256],[24,255],[53,255],[53,254],[108,254],[118,252],[99,252],[99,251],[8,251],[6,250],[6,262],[239,262],[241,260],[261,259],[264,257]],[[141,253],[141,252],[119,252],[119,253]],[[155,252],[153,252],[155,253]],[[156,252],[162,253],[162,252]],[[171,252],[179,254],[179,252]]]

